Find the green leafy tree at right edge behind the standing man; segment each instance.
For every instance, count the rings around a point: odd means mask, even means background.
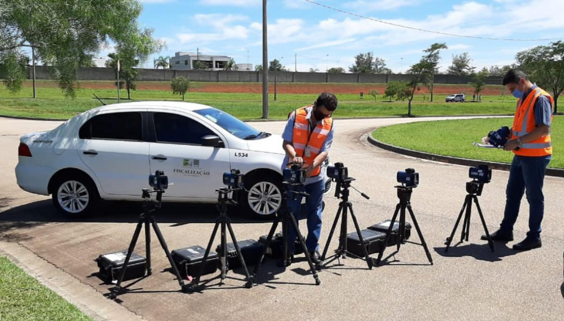
[[[564,90],[564,42],[521,51],[515,58],[533,81],[552,91],[554,114],[558,113],[558,97]]]

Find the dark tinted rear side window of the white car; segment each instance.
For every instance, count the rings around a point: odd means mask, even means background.
[[[78,131],[81,139],[143,140],[141,113],[111,113],[96,115]]]

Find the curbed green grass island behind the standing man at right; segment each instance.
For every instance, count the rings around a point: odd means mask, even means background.
[[[372,137],[387,144],[412,150],[469,159],[510,163],[513,153],[472,146],[491,130],[507,125],[512,118],[465,119],[458,121],[416,122],[382,127]],[[549,167],[564,168],[564,116],[552,124],[553,158]]]

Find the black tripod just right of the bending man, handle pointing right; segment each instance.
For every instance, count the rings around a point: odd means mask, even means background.
[[[339,209],[337,210],[337,215],[335,216],[335,220],[333,221],[333,226],[331,226],[331,232],[329,233],[329,238],[327,239],[327,244],[325,244],[325,249],[323,250],[323,255],[321,256],[321,261],[323,261],[323,265],[327,265],[329,262],[334,260],[338,260],[339,258],[346,258],[347,254],[350,256],[356,257],[356,255],[347,251],[347,213],[350,211],[352,222],[354,223],[354,227],[356,229],[356,233],[358,234],[358,238],[360,240],[360,244],[364,244],[364,239],[362,237],[362,233],[360,232],[360,228],[358,226],[358,221],[356,221],[356,216],[354,215],[354,211],[352,211],[352,203],[349,202],[349,188],[354,187],[351,186],[351,182],[355,179],[349,177],[345,180],[338,181],[337,180],[337,187],[335,189],[335,197],[340,198],[341,202],[339,203]],[[356,190],[356,189],[355,189]],[[356,190],[358,191],[358,190]],[[360,193],[360,191],[358,191]],[[362,197],[365,199],[370,199],[368,195],[364,193],[360,193]],[[325,256],[327,255],[327,251],[329,250],[329,245],[331,244],[331,239],[333,238],[333,233],[335,232],[335,228],[337,227],[337,222],[341,219],[341,231],[339,233],[339,246],[335,250],[335,254],[331,257],[331,259],[325,262]],[[364,260],[366,260],[366,264],[368,265],[368,269],[372,269],[372,259],[368,255],[368,251],[365,246],[362,247],[362,251],[364,253]]]

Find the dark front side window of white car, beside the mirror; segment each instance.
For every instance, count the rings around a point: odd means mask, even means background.
[[[215,135],[208,127],[182,115],[155,113],[153,119],[158,142],[201,145],[202,137]]]

